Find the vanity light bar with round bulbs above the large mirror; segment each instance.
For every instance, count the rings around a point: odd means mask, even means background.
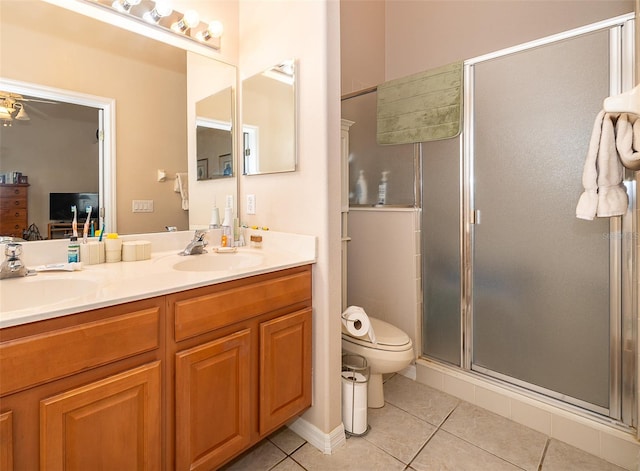
[[[195,10],[185,13],[173,10],[170,0],[90,0],[89,3],[220,50],[222,23],[203,21]]]

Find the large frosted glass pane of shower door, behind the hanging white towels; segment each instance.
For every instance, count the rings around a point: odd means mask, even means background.
[[[609,220],[575,217],[608,33],[475,66],[473,366],[609,404]]]

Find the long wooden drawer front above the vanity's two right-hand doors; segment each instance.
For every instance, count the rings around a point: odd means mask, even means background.
[[[175,301],[175,336],[184,340],[311,299],[309,269]],[[171,301],[170,301],[171,302]]]

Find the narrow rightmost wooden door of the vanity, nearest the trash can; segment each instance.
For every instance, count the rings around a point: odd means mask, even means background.
[[[260,435],[311,405],[311,309],[260,324]]]

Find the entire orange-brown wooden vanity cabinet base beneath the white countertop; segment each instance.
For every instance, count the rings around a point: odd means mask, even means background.
[[[216,469],[308,408],[311,263],[222,278],[0,330],[0,469]]]

